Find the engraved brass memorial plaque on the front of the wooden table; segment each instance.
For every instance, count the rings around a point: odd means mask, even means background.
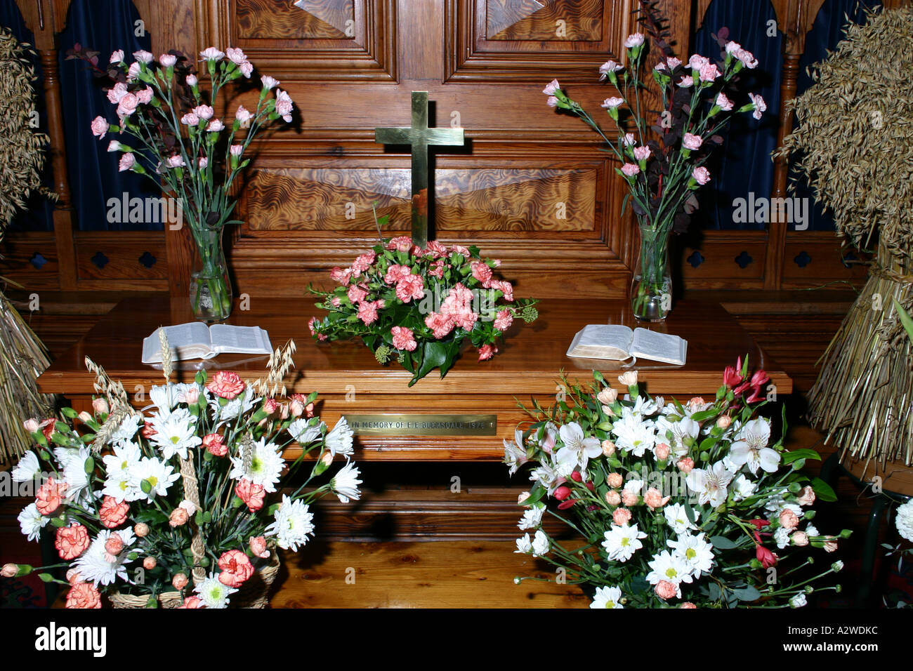
[[[355,435],[498,435],[497,414],[346,414]]]

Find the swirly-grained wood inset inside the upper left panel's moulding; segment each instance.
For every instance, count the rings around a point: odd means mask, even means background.
[[[236,35],[242,39],[354,37],[353,0],[235,0],[235,7]]]

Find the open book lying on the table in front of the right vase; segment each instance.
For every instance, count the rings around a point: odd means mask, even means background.
[[[618,324],[589,324],[577,332],[568,348],[574,359],[609,359],[620,362],[631,357],[682,365],[687,341],[677,335],[653,330],[630,330]]]

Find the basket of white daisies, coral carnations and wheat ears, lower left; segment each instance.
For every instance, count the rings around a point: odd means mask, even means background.
[[[168,381],[171,359],[160,337]],[[328,430],[313,414],[316,393],[277,400],[293,351],[289,342],[274,352],[268,377],[255,383],[201,371],[194,383],[153,386],[144,412],[87,360],[103,394],[93,412],[65,408],[66,421],[27,420],[36,447],[12,473],[37,486],[35,502],[19,515],[22,532],[37,540],[53,529],[63,563],[6,564],[2,574],[42,571],[44,581],[68,584],[68,608],[100,608],[101,592],[115,604],[132,598],[148,607],[247,603],[246,583],[269,567],[275,575],[276,549],[297,551],[314,534],[315,499],[360,496],[345,420]],[[287,465],[283,452],[294,443],[301,453]],[[292,489],[280,491],[284,485]],[[55,568],[68,568],[66,582],[48,572]],[[265,603],[265,593],[259,597]]]

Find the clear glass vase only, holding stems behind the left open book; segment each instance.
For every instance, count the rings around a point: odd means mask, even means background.
[[[222,247],[222,229],[194,233],[196,257],[190,274],[190,307],[200,321],[221,321],[231,314],[232,289]]]

